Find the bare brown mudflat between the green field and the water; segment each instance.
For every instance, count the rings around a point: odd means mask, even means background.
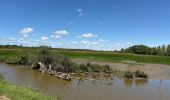
[[[78,64],[87,63],[87,59],[72,59],[73,62]],[[146,63],[136,63],[132,61],[124,61],[122,63],[110,63],[110,62],[91,62],[100,65],[110,65],[113,70],[121,71],[136,71],[141,70],[149,75],[151,79],[167,79],[170,80],[170,65],[163,64],[146,64]]]

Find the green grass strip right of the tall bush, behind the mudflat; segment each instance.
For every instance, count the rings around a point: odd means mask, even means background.
[[[170,57],[167,56],[152,56],[152,55],[136,55],[136,54],[121,54],[113,52],[61,52],[68,57],[76,59],[89,59],[90,61],[99,62],[122,62],[135,61],[139,63],[155,63],[170,65]]]

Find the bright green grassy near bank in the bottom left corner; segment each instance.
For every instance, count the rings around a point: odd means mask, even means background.
[[[44,96],[39,91],[21,87],[0,79],[0,100],[57,100]]]

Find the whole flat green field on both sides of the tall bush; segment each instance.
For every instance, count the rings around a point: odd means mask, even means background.
[[[79,50],[65,50],[53,49],[53,54],[63,54],[73,59],[88,59],[89,61],[99,62],[123,62],[135,61],[139,63],[155,63],[170,65],[170,57],[168,56],[152,56],[152,55],[136,55],[136,54],[121,54],[113,52],[99,52],[99,51],[79,51]],[[0,59],[7,62],[14,62],[16,57],[25,53],[32,55],[36,54],[38,49],[0,49]]]

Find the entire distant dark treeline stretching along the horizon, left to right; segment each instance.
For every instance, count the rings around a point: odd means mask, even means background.
[[[0,45],[0,48],[5,49],[17,49],[17,48],[23,48],[23,49],[40,49],[44,46],[39,47],[25,47],[22,45]],[[95,50],[89,50],[89,49],[66,49],[66,48],[52,48],[50,46],[46,46],[50,50],[57,50],[57,51],[91,51],[91,52],[113,52],[113,53],[132,53],[132,54],[142,54],[142,55],[160,55],[160,56],[170,56],[170,44],[169,45],[162,45],[157,47],[149,47],[146,45],[134,45],[129,48],[122,48],[121,50],[117,51],[95,51]]]

